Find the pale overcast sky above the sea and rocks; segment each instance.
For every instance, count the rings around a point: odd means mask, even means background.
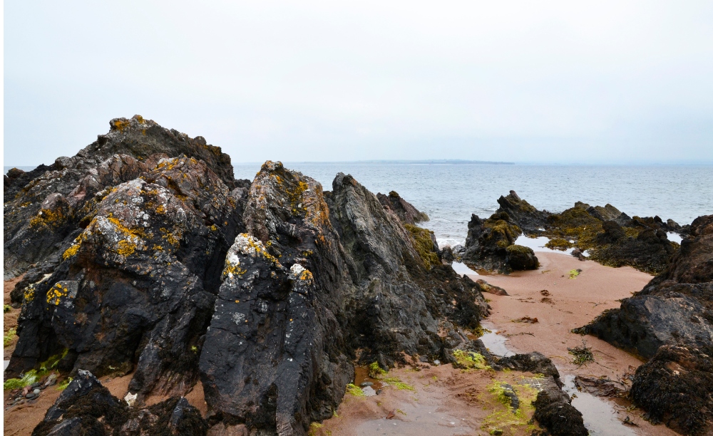
[[[233,162],[713,162],[711,1],[6,1],[4,165],[143,115]]]

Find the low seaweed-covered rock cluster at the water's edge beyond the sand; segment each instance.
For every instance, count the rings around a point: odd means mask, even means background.
[[[629,217],[616,207],[590,206],[576,202],[559,214],[538,210],[511,191],[498,199],[500,207],[488,219],[476,215],[468,223],[466,245],[459,253],[466,264],[476,268],[508,272],[536,269],[531,249],[515,244],[521,234],[548,237],[550,249],[574,248],[573,254],[607,266],[632,266],[657,274],[664,271],[678,249],[667,232],[687,234],[673,220],[659,217]]]

